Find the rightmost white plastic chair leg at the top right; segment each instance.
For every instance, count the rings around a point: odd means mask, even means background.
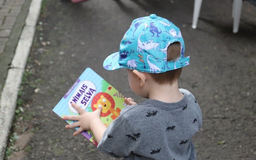
[[[234,0],[234,2],[235,2],[235,9],[233,9],[234,10],[233,33],[237,33],[239,28],[239,21],[241,16],[243,0]]]

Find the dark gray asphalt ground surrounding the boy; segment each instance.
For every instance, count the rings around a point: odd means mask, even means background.
[[[254,159],[256,9],[243,3],[239,32],[233,34],[231,6],[231,1],[203,2],[194,30],[193,1],[44,0],[12,129],[11,140],[21,138],[10,142],[6,158],[112,159],[83,136],[73,137],[74,130],[65,130],[51,110],[87,67],[141,102],[126,73],[106,71],[102,62],[118,51],[133,19],[156,13],[180,27],[191,56],[179,85],[202,109],[203,128],[193,138],[198,159]]]

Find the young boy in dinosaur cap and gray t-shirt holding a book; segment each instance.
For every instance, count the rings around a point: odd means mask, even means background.
[[[188,64],[180,29],[172,22],[155,14],[133,20],[120,51],[103,66],[125,68],[132,91],[147,100],[136,104],[125,98],[127,107],[108,128],[99,118],[102,108],[85,112],[73,103],[80,116],[63,117],[78,121],[66,128],[80,126],[74,135],[91,130],[98,149],[113,157],[196,159],[191,138],[202,127],[201,110],[190,92],[178,88],[182,67]]]

